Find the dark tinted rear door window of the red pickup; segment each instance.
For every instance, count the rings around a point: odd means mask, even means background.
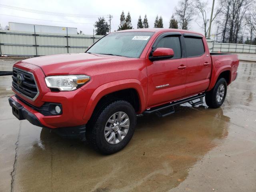
[[[185,44],[188,57],[198,57],[204,54],[202,38],[185,37]]]

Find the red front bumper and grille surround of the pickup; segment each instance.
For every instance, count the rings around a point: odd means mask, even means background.
[[[18,62],[14,67],[32,73],[38,92],[40,92],[38,97],[32,100],[24,97],[12,87],[16,96],[11,97],[10,105],[15,103],[19,106],[16,108],[24,108],[20,109],[21,118],[28,119],[37,126],[52,129],[81,126],[87,123],[88,120],[84,119],[84,113],[91,94],[82,88],[73,91],[51,91],[46,86],[45,74],[40,67],[26,62]],[[55,110],[55,105],[61,108],[60,113]]]

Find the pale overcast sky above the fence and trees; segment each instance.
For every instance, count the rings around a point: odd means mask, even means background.
[[[163,17],[164,28],[168,28],[170,17],[175,12],[178,0],[0,0],[0,4],[40,11],[93,16],[92,18],[52,16],[0,7],[0,24],[2,27],[8,25],[8,22],[20,22],[74,27],[77,28],[78,32],[82,30],[84,34],[93,34],[93,24],[98,20],[97,17],[107,17],[106,15],[109,14],[113,16],[111,31],[117,30],[122,11],[125,15],[128,11],[130,12],[133,28],[137,28],[138,17],[141,15],[143,20],[145,14],[147,14],[150,28],[154,27],[156,15]],[[210,0],[211,4],[212,1]],[[210,16],[210,11],[208,14]],[[200,24],[198,15],[195,16],[195,20]],[[197,23],[191,22],[189,30],[203,33]],[[214,26],[212,27],[214,28]]]

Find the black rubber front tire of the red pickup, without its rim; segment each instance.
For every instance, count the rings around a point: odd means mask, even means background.
[[[124,136],[120,142],[116,144],[110,144],[105,139],[104,129],[108,119],[114,113],[120,111],[127,114],[130,120],[130,126],[126,136]],[[94,119],[90,120],[90,123],[86,128],[86,139],[88,140],[89,144],[98,152],[102,154],[113,154],[123,149],[129,143],[134,134],[135,125],[136,113],[133,106],[127,101],[118,100],[110,103],[94,115]]]

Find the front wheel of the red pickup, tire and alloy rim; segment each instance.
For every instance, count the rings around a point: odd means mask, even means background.
[[[92,147],[102,154],[112,154],[124,148],[134,134],[136,113],[126,101],[115,101],[99,112],[86,138]]]

